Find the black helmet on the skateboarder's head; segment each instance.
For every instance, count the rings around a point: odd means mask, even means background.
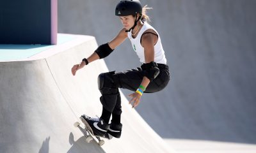
[[[142,13],[142,6],[138,0],[124,0],[116,5],[116,16],[136,15]]]

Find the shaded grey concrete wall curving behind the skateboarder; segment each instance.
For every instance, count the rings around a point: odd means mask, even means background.
[[[122,24],[118,1],[59,3],[61,33],[110,41]],[[168,87],[136,108],[163,138],[256,143],[256,1],[143,1],[172,73]],[[127,40],[106,58],[109,70],[140,66]],[[125,96],[130,91],[123,90]],[[150,112],[150,113],[149,113]],[[200,147],[200,146],[198,146]]]

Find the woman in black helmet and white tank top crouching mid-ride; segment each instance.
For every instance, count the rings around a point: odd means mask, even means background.
[[[102,115],[100,118],[81,116],[90,125],[94,135],[109,134],[120,138],[122,109],[118,88],[133,91],[129,95],[131,98],[129,103],[132,107],[136,107],[140,103],[143,92],[161,91],[170,80],[160,36],[156,29],[147,23],[148,16],[145,13],[147,9],[147,6],[142,8],[138,0],[120,1],[116,5],[115,15],[120,18],[124,27],[113,40],[100,45],[90,57],[84,58],[81,64],[76,64],[72,68],[72,74],[76,75],[78,69],[84,68],[90,62],[107,57],[126,38],[129,38],[133,50],[140,58],[141,68],[122,72],[111,71],[99,75]],[[111,124],[109,124],[111,115]]]

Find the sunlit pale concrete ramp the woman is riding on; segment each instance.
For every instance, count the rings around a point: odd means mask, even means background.
[[[100,60],[73,77],[72,66],[97,43],[92,36],[72,36],[29,58],[0,62],[0,152],[173,152],[124,95],[122,137],[102,148],[85,142],[73,124],[83,113],[100,115],[97,76],[108,68]]]

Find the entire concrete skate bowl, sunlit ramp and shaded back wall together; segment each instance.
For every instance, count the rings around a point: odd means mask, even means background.
[[[153,8],[170,84],[136,110],[121,89],[122,138],[86,143],[73,124],[101,113],[99,73],[141,64],[126,40],[71,75],[122,28],[117,2],[59,1],[58,31],[70,34],[56,46],[0,45],[0,152],[256,152],[254,0],[141,0]]]

